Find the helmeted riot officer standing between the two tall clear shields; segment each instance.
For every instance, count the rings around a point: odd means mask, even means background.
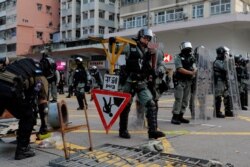
[[[216,49],[217,57],[213,63],[214,71],[214,90],[215,90],[215,113],[217,118],[224,118],[225,116],[232,117],[232,102],[229,96],[228,85],[228,68],[227,58],[229,56],[229,48],[221,46]],[[224,99],[225,115],[222,114],[221,102]]]

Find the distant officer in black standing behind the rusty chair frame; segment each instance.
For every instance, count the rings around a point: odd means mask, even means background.
[[[76,69],[73,76],[73,85],[75,88],[75,95],[79,107],[77,110],[83,110],[84,106],[88,108],[86,96],[85,96],[85,85],[87,84],[87,72],[82,64],[82,58],[77,57],[75,59]]]

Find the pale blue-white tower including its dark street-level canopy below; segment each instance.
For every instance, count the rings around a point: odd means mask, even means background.
[[[119,1],[61,0],[60,43],[53,45],[53,56],[74,64],[72,58],[81,56],[86,68],[96,65],[106,71],[107,61],[101,44],[93,44],[89,36],[103,37],[119,25]]]

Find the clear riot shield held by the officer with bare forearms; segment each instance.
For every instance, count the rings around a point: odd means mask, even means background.
[[[191,88],[190,110],[195,120],[208,120],[213,117],[212,65],[209,52],[204,46],[194,50],[197,75]],[[193,98],[193,99],[192,99]],[[193,105],[192,105],[193,104]],[[209,107],[210,106],[210,107]]]

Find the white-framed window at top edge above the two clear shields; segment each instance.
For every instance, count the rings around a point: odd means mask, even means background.
[[[211,15],[230,13],[231,0],[214,0],[211,2]]]

